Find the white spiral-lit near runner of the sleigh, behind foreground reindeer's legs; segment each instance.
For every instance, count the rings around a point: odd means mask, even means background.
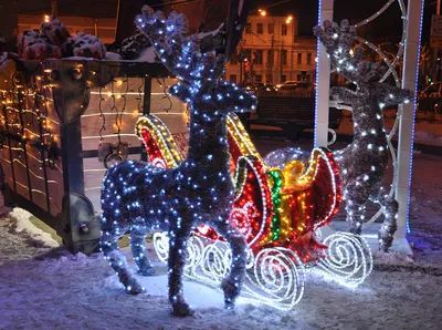
[[[166,233],[154,234],[154,248],[162,262],[168,260],[169,238]],[[265,248],[256,257],[248,250],[246,274],[242,299],[261,302],[281,310],[291,310],[304,295],[305,268],[299,258],[284,248]],[[206,244],[192,236],[188,245],[188,262],[185,275],[191,279],[218,288],[229,274],[231,252],[220,240]]]

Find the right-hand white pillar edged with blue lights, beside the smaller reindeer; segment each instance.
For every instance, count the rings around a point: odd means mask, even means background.
[[[396,198],[399,202],[399,216],[394,239],[406,238],[408,227],[423,2],[423,0],[408,1],[402,87],[412,90],[414,92],[414,100],[400,106],[402,116],[399,124],[398,186],[396,188]]]

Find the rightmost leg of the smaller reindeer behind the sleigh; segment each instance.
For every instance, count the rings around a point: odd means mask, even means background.
[[[379,238],[379,249],[388,252],[388,249],[391,247],[393,243],[393,235],[396,229],[398,229],[396,219],[398,217],[399,204],[398,202],[388,196],[381,195],[375,199],[375,202],[379,203],[385,207],[383,212],[383,223],[379,229],[378,238]]]

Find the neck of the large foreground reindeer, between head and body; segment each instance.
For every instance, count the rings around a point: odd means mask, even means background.
[[[229,171],[229,145],[225,116],[203,116],[191,111],[187,161],[218,171]],[[225,167],[225,168],[224,168]]]

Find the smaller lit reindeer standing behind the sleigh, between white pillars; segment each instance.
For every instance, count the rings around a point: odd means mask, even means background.
[[[364,61],[361,47],[357,47],[350,55],[356,28],[350,27],[347,20],[343,20],[340,27],[325,21],[324,29],[316,27],[314,32],[326,47],[333,68],[357,86],[356,91],[346,87],[333,87],[330,91],[335,100],[352,107],[354,141],[335,154],[340,165],[349,230],[361,233],[368,199],[380,204],[385,207],[385,220],[378,237],[380,249],[388,251],[397,229],[398,203],[381,187],[388,166],[382,110],[409,102],[412,92],[379,82],[385,68]]]

